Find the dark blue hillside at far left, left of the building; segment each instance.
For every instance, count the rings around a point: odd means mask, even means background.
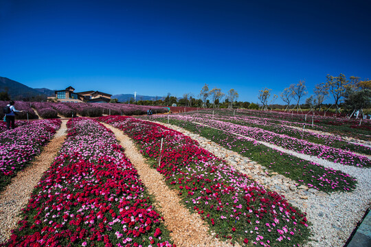
[[[0,91],[8,91],[10,98],[17,100],[32,99],[35,97],[46,98],[47,96],[41,91],[30,88],[30,86],[3,77],[0,77]]]

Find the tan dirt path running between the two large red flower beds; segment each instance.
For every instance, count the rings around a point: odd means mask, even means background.
[[[225,242],[219,242],[208,233],[208,227],[196,214],[191,214],[180,202],[177,192],[170,190],[164,182],[163,176],[151,168],[145,158],[137,151],[135,144],[129,137],[124,135],[122,130],[104,124],[113,131],[120,145],[125,149],[125,155],[137,169],[142,183],[148,192],[155,197],[158,204],[158,211],[164,216],[165,224],[174,243],[179,247],[210,246],[222,247],[231,246]],[[236,244],[236,246],[238,246]]]

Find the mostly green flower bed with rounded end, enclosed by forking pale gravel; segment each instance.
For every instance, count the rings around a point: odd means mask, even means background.
[[[167,122],[167,119],[164,117],[158,117],[156,120]],[[301,158],[268,148],[245,137],[238,137],[223,130],[193,124],[189,121],[171,119],[170,124],[195,132],[222,145],[224,148],[238,152],[242,156],[251,159],[251,161],[264,165],[273,172],[278,172],[296,180],[298,184],[306,185],[313,189],[326,192],[352,191],[357,185],[356,179],[348,174],[323,167],[317,163],[304,161]]]

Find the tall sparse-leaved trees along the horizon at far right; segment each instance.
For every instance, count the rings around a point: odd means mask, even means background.
[[[286,103],[284,110],[296,110],[297,113],[299,110],[302,111],[300,100],[307,93],[304,80],[286,87],[280,93],[280,98]],[[271,95],[271,89],[261,89],[258,94],[258,99],[261,102],[260,109],[267,110],[268,106],[272,105],[277,97],[278,95]],[[330,106],[324,104],[324,101],[329,97],[333,98]],[[291,104],[292,102],[294,104]],[[315,85],[313,94],[306,98],[305,105],[311,109],[313,114],[316,111],[327,111],[330,108],[335,108],[335,113],[341,113],[342,108],[344,109],[343,112],[350,114],[350,116],[357,111],[364,115],[363,109],[371,106],[371,80],[361,80],[357,76],[350,76],[347,79],[342,73],[339,76],[326,75],[326,82]]]

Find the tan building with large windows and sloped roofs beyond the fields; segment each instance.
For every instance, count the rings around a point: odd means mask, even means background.
[[[75,93],[72,86],[65,90],[54,91],[55,97],[47,97],[48,99],[56,99],[58,102],[109,102],[111,96],[109,93],[102,93],[100,91],[85,91]]]

